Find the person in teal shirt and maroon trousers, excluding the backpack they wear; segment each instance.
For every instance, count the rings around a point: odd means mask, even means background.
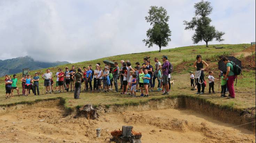
[[[225,78],[223,80],[227,80],[227,87],[228,87],[228,92],[230,96],[228,96],[228,99],[235,98],[235,90],[234,90],[234,80],[236,78],[236,75],[234,74],[234,67],[233,67],[233,62],[229,61],[227,57],[223,57],[222,61],[226,64],[227,66],[227,73]]]

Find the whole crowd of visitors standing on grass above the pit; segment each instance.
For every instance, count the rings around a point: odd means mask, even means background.
[[[204,88],[206,86],[206,81],[204,80],[204,70],[208,67],[208,64],[203,61],[201,55],[196,56],[196,61],[194,62],[194,67],[196,68],[195,76],[193,72],[190,72],[191,86],[197,87],[196,94],[203,95]],[[227,57],[221,57],[223,62],[227,65],[227,72],[220,72],[219,76],[222,78],[222,92],[221,97],[226,97],[225,92],[226,88],[230,92],[228,98],[234,98],[234,73],[232,73],[233,65],[228,61]],[[120,61],[120,66],[118,62],[114,63],[114,66],[111,67],[110,64],[105,64],[103,67],[100,63],[95,65],[95,70],[92,69],[92,65],[87,67],[79,67],[76,71],[75,66],[72,66],[71,69],[65,67],[65,69],[58,69],[55,75],[50,71],[46,70],[46,73],[41,75],[41,78],[44,79],[43,92],[52,93],[54,92],[54,77],[56,77],[56,86],[55,92],[74,92],[74,98],[79,99],[79,94],[81,91],[82,83],[84,82],[85,91],[97,91],[97,92],[109,92],[113,90],[113,82],[115,91],[118,92],[118,82],[120,80],[121,87],[119,88],[121,94],[136,96],[137,92],[140,92],[141,97],[148,97],[149,92],[153,91],[155,87],[155,80],[157,79],[157,90],[162,91],[162,95],[169,95],[171,88],[171,73],[173,71],[172,64],[168,61],[167,56],[162,56],[162,64],[157,57],[154,58],[154,66],[150,62],[150,57],[145,57],[144,63],[140,64],[139,62],[135,63],[135,66],[132,68],[130,61]],[[203,66],[205,65],[205,68]],[[209,71],[209,93],[211,90],[214,91],[214,77],[212,76],[213,72]],[[34,77],[31,75],[24,75],[20,80],[22,82],[22,95],[28,96],[30,90],[34,93],[35,96],[39,96],[39,76],[36,72]],[[194,79],[196,86],[194,84]],[[228,79],[228,80],[227,80]],[[20,96],[20,90],[17,87],[17,76],[14,74],[11,79],[10,76],[6,75],[5,84],[6,84],[6,98],[13,97],[14,90],[17,91],[18,96]],[[92,85],[93,83],[93,85]],[[144,92],[145,90],[145,92]]]

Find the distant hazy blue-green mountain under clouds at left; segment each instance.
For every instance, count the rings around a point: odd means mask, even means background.
[[[22,72],[22,69],[29,68],[29,70],[37,70],[42,68],[48,68],[52,66],[62,65],[62,64],[69,64],[69,62],[63,61],[56,61],[56,62],[39,62],[34,61],[32,57],[24,56],[24,57],[17,57],[14,59],[7,59],[7,60],[0,60],[0,77],[6,74],[14,74],[18,72]]]

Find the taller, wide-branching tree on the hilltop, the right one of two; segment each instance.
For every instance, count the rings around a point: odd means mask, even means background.
[[[219,42],[224,41],[222,36],[225,33],[219,32],[215,29],[215,26],[210,25],[211,19],[207,17],[212,12],[210,4],[210,2],[203,0],[195,3],[195,17],[193,17],[190,22],[186,20],[183,21],[184,25],[186,25],[185,30],[195,30],[195,33],[192,36],[193,44],[204,41],[206,47],[208,47],[208,42],[212,41],[214,38]]]

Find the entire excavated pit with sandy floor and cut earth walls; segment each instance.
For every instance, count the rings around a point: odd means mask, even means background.
[[[253,114],[195,97],[98,106],[96,120],[73,118],[76,109],[67,110],[63,104],[60,98],[1,107],[0,142],[109,142],[110,132],[122,125],[142,132],[142,142],[255,142],[255,123],[231,128],[255,121]],[[96,128],[101,128],[100,138]]]

